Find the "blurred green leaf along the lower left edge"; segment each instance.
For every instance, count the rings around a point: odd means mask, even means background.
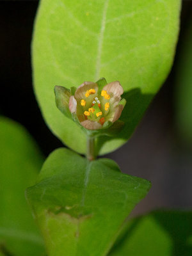
[[[34,184],[43,162],[28,132],[19,124],[0,117],[0,248],[3,255],[42,256],[42,237],[24,196]],[[0,250],[1,251],[1,250]]]

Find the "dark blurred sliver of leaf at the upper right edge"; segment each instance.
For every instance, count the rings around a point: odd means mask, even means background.
[[[176,72],[176,116],[180,135],[192,143],[192,22],[182,38]]]

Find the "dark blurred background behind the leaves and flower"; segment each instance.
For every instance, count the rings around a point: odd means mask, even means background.
[[[37,6],[38,1],[0,1],[0,114],[24,125],[48,156],[63,145],[45,125],[33,93],[30,44]],[[131,140],[106,156],[114,159],[123,172],[152,181],[152,189],[134,214],[157,207],[192,206],[192,153],[182,143],[175,122],[175,74],[180,42],[191,15],[192,1],[183,1],[172,72]]]

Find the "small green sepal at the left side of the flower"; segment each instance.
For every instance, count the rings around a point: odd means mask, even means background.
[[[68,108],[68,102],[70,98],[70,90],[63,86],[55,86],[54,87],[54,93],[56,97],[56,106],[60,111],[67,116],[68,118],[71,118],[71,113]]]

